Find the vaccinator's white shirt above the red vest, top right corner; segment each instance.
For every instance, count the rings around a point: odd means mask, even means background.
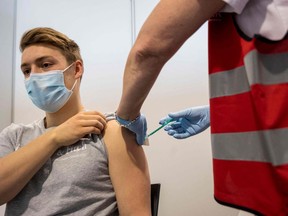
[[[236,13],[236,23],[249,38],[261,35],[272,41],[287,35],[287,0],[223,0],[221,12]]]

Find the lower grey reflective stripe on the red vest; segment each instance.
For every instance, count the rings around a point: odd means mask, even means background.
[[[215,159],[288,163],[288,128],[212,134]]]

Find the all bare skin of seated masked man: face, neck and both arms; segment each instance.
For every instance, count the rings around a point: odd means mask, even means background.
[[[63,70],[70,65],[57,48],[44,44],[27,47],[21,61],[25,78],[30,76],[31,71]],[[100,134],[105,127],[103,138],[120,214],[150,215],[150,178],[143,149],[136,145],[133,135],[123,131],[116,121],[106,124],[103,114],[83,111],[79,93],[82,75],[81,61],[74,62],[64,72],[68,89],[76,80],[77,83],[69,101],[59,111],[46,113],[46,127],[54,128],[0,158],[0,204],[13,199],[58,148],[69,146],[87,134]]]

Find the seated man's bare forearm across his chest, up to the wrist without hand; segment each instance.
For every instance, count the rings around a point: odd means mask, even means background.
[[[13,199],[57,148],[52,134],[46,133],[0,158],[0,205]]]

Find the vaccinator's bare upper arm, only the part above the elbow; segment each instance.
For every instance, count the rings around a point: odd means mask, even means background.
[[[135,49],[169,58],[224,5],[223,0],[161,0],[142,26]]]

